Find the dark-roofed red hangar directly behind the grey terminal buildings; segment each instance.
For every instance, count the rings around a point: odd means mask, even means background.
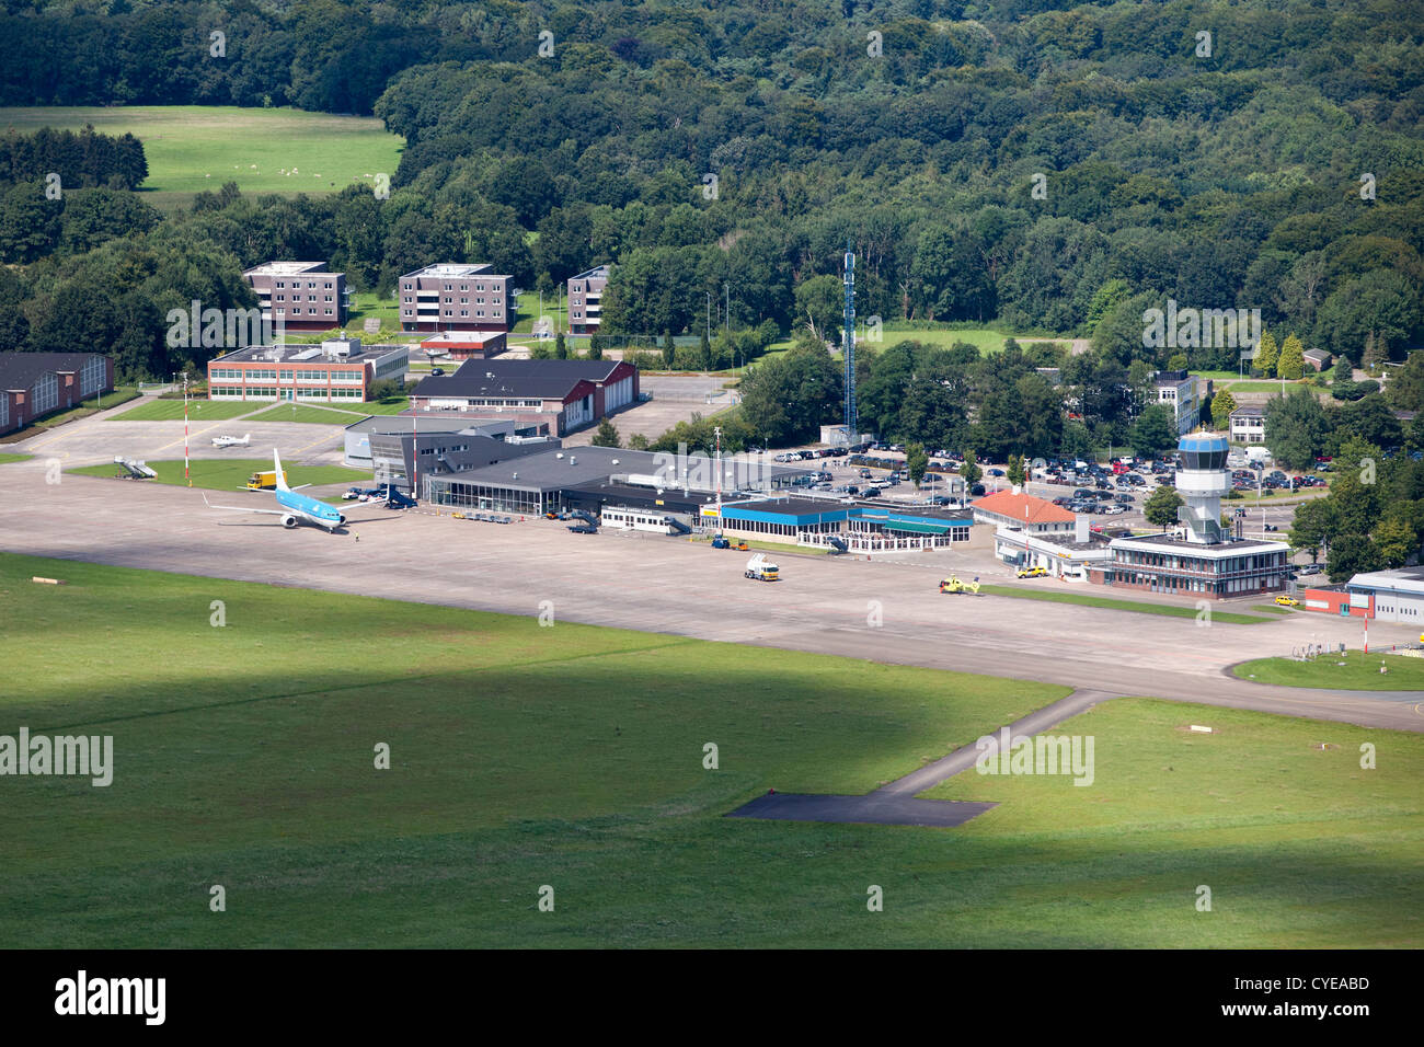
[[[467,360],[416,386],[416,412],[483,412],[565,436],[638,402],[638,368],[621,360]]]

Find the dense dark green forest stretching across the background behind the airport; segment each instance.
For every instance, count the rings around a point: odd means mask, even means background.
[[[1418,14],[9,3],[0,38],[26,46],[7,48],[6,104],[293,104],[373,113],[407,145],[387,199],[226,187],[168,219],[108,185],[48,201],[20,170],[0,185],[0,261],[23,266],[0,278],[0,339],[114,345],[125,373],[164,373],[147,325],[191,298],[248,302],[238,274],[272,258],[329,259],[357,291],[431,261],[493,262],[525,288],[615,262],[611,330],[696,332],[712,301],[733,332],[834,339],[850,242],[862,316],[1092,338],[1074,366],[1105,389],[1179,352],[1142,345],[1169,299],[1401,359],[1424,286]],[[1186,355],[1237,363],[1230,346]]]

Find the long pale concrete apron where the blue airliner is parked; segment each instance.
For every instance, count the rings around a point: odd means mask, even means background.
[[[252,454],[266,450],[253,443]],[[281,449],[293,457],[295,447]],[[783,580],[765,584],[742,577],[745,553],[609,530],[571,534],[533,517],[468,523],[427,507],[394,513],[356,503],[346,510],[356,543],[350,533],[283,530],[271,517],[209,510],[201,491],[184,487],[73,474],[48,484],[44,466],[43,457],[0,466],[6,551],[507,614],[535,615],[551,601],[557,621],[1424,731],[1421,692],[1265,687],[1223,675],[1235,662],[1289,655],[1307,642],[1358,647],[1356,620],[1296,613],[1199,625],[1190,617],[940,595],[941,571],[931,568],[973,570],[958,551],[923,554],[924,564],[778,553]],[[1370,630],[1376,645],[1417,635],[1405,625]]]

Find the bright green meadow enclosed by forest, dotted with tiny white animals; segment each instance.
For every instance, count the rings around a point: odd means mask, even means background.
[[[376,175],[394,175],[404,147],[375,117],[236,105],[114,105],[0,108],[0,127],[132,132],[144,142],[154,207],[188,205],[204,189],[236,182],[245,195],[325,195]]]

